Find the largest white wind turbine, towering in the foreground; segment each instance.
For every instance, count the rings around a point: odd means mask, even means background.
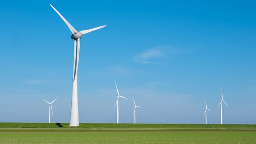
[[[94,30],[98,30],[105,26],[99,26],[96,28],[91,28],[88,30],[77,31],[71,26],[71,24],[55,9],[51,4],[50,6],[54,11],[61,17],[61,19],[66,23],[70,31],[72,32],[71,38],[74,39],[74,61],[73,61],[73,84],[72,84],[72,102],[71,102],[71,113],[70,113],[70,123],[69,126],[79,126],[78,117],[78,98],[77,98],[77,70],[79,62],[79,50],[80,50],[80,39],[83,35],[90,33]]]

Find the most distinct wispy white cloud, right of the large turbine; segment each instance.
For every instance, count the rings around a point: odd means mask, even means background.
[[[156,62],[153,62],[153,60],[163,56],[164,56],[163,49],[160,47],[157,47],[153,49],[147,49],[142,53],[137,54],[133,58],[133,61],[137,63],[142,63],[142,64],[156,63]]]

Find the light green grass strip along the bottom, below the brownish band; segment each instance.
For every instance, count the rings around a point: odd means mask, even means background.
[[[256,144],[256,132],[1,133],[0,144]]]

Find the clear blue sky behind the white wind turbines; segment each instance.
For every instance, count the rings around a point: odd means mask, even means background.
[[[0,122],[69,123],[73,40],[81,39],[80,123],[256,124],[256,3],[226,0],[41,0],[0,5]]]

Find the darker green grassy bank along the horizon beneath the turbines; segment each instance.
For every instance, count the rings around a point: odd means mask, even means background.
[[[69,123],[0,123],[0,128],[249,128],[256,130],[256,125],[80,123],[79,127],[69,127]]]

